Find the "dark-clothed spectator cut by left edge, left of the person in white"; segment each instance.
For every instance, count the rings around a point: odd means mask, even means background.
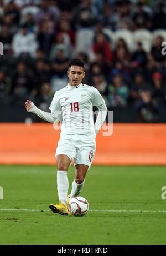
[[[3,54],[12,54],[12,35],[9,33],[9,27],[3,24],[0,42],[3,42]]]

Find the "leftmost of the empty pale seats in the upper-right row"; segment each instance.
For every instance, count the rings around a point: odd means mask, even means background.
[[[115,32],[115,42],[117,43],[118,39],[120,39],[120,38],[125,40],[129,51],[134,50],[133,33],[131,31],[129,31],[128,29],[118,29]]]

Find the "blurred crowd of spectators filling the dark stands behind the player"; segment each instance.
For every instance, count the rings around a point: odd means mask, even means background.
[[[149,52],[142,42],[131,50],[124,38],[111,42],[106,31],[118,29],[166,29],[165,1],[0,0],[0,104],[23,108],[28,98],[48,111],[68,83],[70,59],[81,58],[84,83],[108,108],[135,108],[138,122],[158,122],[166,106],[164,38],[155,37]],[[90,46],[86,37],[78,46],[81,31],[91,32]]]

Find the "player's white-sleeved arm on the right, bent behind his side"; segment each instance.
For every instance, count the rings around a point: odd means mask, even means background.
[[[97,135],[98,130],[100,130],[103,122],[105,121],[105,118],[107,116],[108,109],[106,107],[106,104],[103,103],[100,106],[97,106],[98,108],[98,116],[95,123],[95,133]]]

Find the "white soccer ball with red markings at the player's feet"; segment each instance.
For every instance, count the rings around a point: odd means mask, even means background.
[[[73,197],[69,201],[69,210],[74,216],[84,216],[89,210],[89,203],[84,197]]]

